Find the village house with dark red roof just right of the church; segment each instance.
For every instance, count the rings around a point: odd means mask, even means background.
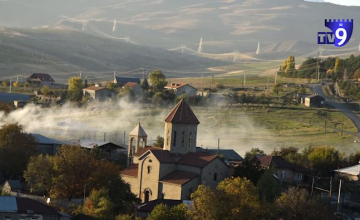
[[[280,156],[259,157],[260,166],[264,169],[274,169],[279,180],[285,182],[306,182],[311,170],[298,164],[290,163]]]

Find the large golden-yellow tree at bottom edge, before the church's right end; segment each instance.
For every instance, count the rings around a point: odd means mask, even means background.
[[[260,219],[256,187],[246,178],[227,178],[216,190],[200,185],[191,195],[194,219]]]

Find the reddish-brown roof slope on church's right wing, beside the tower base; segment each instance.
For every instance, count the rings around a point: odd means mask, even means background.
[[[187,153],[178,163],[194,167],[205,167],[217,156],[205,152]]]

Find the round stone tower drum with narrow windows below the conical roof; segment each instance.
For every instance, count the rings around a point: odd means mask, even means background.
[[[176,137],[175,137],[176,132]],[[191,136],[190,136],[191,133]],[[164,145],[165,150],[171,153],[186,154],[196,152],[197,125],[165,123]],[[175,146],[174,146],[174,138]],[[191,143],[189,145],[189,143]]]

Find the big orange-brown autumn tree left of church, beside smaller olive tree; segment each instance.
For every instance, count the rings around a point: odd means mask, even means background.
[[[54,198],[83,196],[94,168],[94,158],[80,146],[64,145],[54,157],[53,186],[50,194]]]

